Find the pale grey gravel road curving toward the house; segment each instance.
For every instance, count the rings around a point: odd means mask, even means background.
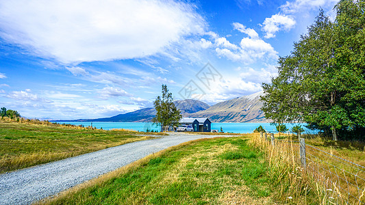
[[[31,204],[154,152],[193,139],[218,136],[171,133],[160,137],[1,174],[0,204]]]

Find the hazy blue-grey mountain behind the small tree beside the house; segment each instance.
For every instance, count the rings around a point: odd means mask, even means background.
[[[189,113],[195,113],[197,111],[203,111],[208,109],[210,106],[205,102],[199,100],[176,100],[175,106],[180,109],[182,115],[186,117]],[[133,112],[115,115],[111,118],[98,118],[90,120],[76,120],[81,122],[151,122],[152,118],[156,115],[154,107],[138,109]]]

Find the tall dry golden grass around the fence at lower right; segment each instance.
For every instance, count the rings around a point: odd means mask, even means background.
[[[275,135],[277,138],[279,135]],[[283,135],[281,135],[283,137]],[[308,136],[307,136],[308,137]],[[297,141],[293,135],[282,139]],[[320,137],[305,139],[305,143],[353,163],[364,166],[364,143],[357,141],[331,141]],[[250,145],[264,152],[268,169],[278,182],[277,200],[305,201],[307,204],[360,204],[365,202],[364,172],[348,166],[336,158],[324,156],[307,147],[307,169],[299,165],[299,144],[275,140],[275,147],[259,134],[251,137]],[[336,168],[335,168],[336,167]],[[357,178],[355,178],[355,176]],[[290,182],[290,186],[288,184]],[[338,187],[342,187],[339,189]],[[309,197],[312,196],[312,197]],[[314,197],[313,197],[314,196]],[[357,199],[355,197],[357,197]],[[290,200],[289,200],[290,199]]]

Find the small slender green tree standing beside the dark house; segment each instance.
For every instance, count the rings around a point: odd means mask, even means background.
[[[181,120],[181,111],[175,107],[173,94],[168,92],[167,85],[162,85],[162,96],[158,96],[153,102],[157,111],[152,122],[162,126],[178,126]]]

